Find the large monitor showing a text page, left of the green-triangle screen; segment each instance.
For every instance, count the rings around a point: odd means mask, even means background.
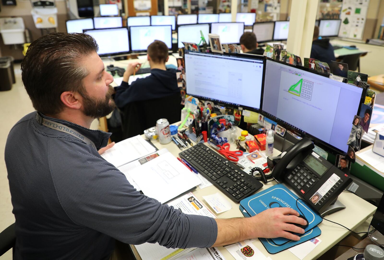
[[[188,95],[260,109],[264,57],[190,51],[184,55]]]

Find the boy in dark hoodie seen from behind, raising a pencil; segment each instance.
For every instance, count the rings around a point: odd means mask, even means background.
[[[143,79],[136,79],[131,85],[128,79],[133,72],[140,69],[140,63],[132,63],[127,66],[123,80],[116,87],[115,103],[119,108],[135,101],[149,100],[173,96],[180,93],[177,87],[176,69],[167,69],[168,47],[162,41],[154,41],[147,48],[147,59],[151,66],[151,75]]]

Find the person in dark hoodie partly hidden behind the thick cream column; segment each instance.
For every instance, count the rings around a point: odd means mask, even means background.
[[[329,43],[329,39],[319,38],[319,26],[314,26],[313,41],[311,49],[311,58],[331,64],[336,61],[333,46]]]

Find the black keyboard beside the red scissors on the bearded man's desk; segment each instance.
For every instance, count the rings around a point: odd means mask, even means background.
[[[232,201],[240,202],[263,187],[262,183],[239,166],[201,143],[179,153],[179,156]]]

